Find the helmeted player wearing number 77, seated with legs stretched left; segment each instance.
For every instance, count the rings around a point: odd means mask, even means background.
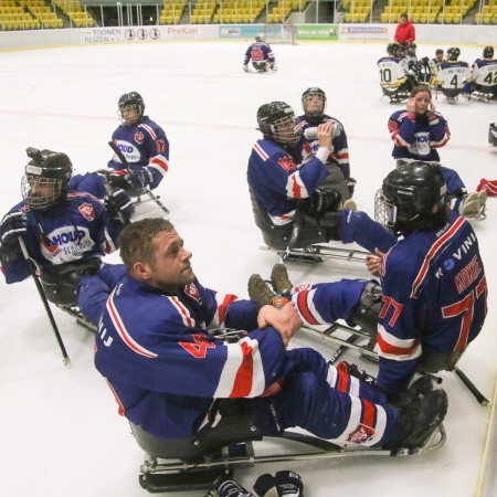
[[[381,284],[341,279],[294,286],[283,264],[273,268],[271,281],[306,325],[345,319],[373,339],[378,332],[376,388],[392,399],[405,391],[419,364],[447,369],[478,336],[487,284],[476,234],[447,209],[438,167],[419,161],[391,171],[377,199],[379,219],[402,236],[387,253],[367,258]],[[276,294],[261,276],[251,277],[252,299],[271,304]]]

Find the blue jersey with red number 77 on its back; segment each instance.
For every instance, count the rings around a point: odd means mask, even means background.
[[[409,384],[423,350],[466,347],[482,330],[487,283],[478,240],[451,211],[437,232],[413,232],[381,261],[379,385],[398,393]]]

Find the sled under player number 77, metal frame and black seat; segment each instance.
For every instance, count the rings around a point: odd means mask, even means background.
[[[362,329],[351,328],[349,326],[341,325],[339,322],[334,322],[325,331],[318,331],[308,326],[303,326],[302,328],[305,332],[320,337],[322,339],[328,339],[338,345],[337,351],[332,355],[331,359],[328,361],[334,364],[337,359],[347,350],[352,349],[359,352],[361,359],[369,362],[378,363],[378,353],[373,350],[376,342],[371,340],[371,336]],[[334,335],[336,331],[346,331],[349,334],[347,339],[337,337]],[[368,339],[367,345],[358,345],[358,340]],[[472,392],[477,402],[483,406],[487,406],[490,401],[475,387],[475,384],[469,380],[469,378],[457,367],[457,362],[465,352],[467,346],[464,349],[456,350],[454,352],[437,353],[424,351],[420,358],[417,364],[419,374],[430,374],[436,383],[442,383],[442,378],[435,374],[441,371],[453,371],[461,381],[466,385],[466,388]]]

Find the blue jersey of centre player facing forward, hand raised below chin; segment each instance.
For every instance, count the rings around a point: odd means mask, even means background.
[[[331,145],[334,147],[329,157],[338,162],[338,167],[343,175],[345,179],[350,178],[350,163],[349,163],[349,145],[347,142],[347,135],[345,133],[342,124],[331,116],[322,116],[321,123],[338,123],[341,126],[341,133],[338,136],[335,136],[331,140]],[[321,124],[320,123],[320,124]],[[302,133],[302,138],[299,145],[302,147],[302,158],[304,162],[308,160],[308,156],[313,156],[317,152],[319,148],[318,139],[309,140],[304,136],[304,131],[307,128],[316,127],[316,124],[308,123],[306,120],[306,116],[298,116],[295,121],[295,133]]]

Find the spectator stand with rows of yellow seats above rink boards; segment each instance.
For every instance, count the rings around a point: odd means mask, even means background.
[[[0,0],[0,30],[261,23],[497,24],[497,0]]]

